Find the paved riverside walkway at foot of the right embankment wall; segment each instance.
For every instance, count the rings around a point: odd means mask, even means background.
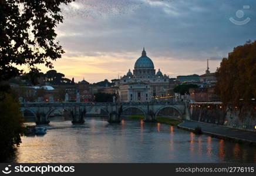
[[[232,140],[235,142],[245,142],[256,145],[256,131],[245,131],[237,128],[218,126],[211,123],[203,123],[198,121],[184,121],[178,125],[178,128],[185,130],[194,130],[197,126],[201,127],[203,134],[207,134],[216,138]]]

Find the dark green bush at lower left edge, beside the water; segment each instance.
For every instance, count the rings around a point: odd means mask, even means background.
[[[0,162],[10,157],[25,133],[19,103],[7,93],[0,94]]]

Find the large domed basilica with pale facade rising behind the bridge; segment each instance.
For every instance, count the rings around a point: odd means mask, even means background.
[[[130,71],[116,81],[119,86],[120,102],[151,101],[157,97],[164,97],[169,89],[169,76],[163,75],[160,69],[156,73],[153,61],[147,57],[143,48],[142,56],[137,59],[133,73]]]

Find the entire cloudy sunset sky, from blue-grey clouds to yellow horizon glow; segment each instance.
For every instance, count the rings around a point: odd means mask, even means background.
[[[214,72],[235,46],[256,39],[254,0],[77,0],[62,12],[56,31],[66,53],[54,69],[75,82],[123,76],[143,47],[155,69],[170,77],[203,74],[207,58]],[[231,17],[251,20],[235,25]]]

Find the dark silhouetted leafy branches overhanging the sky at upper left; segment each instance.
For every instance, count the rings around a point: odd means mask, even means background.
[[[28,66],[31,75],[39,73],[38,64],[53,67],[64,53],[55,41],[55,27],[63,21],[59,6],[72,1],[0,1],[0,82],[22,73],[15,65]]]

